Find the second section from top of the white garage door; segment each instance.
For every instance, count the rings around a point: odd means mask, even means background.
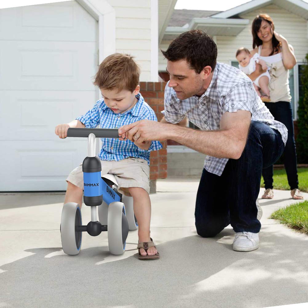
[[[95,89],[95,43],[0,41],[0,48],[0,90]]]

